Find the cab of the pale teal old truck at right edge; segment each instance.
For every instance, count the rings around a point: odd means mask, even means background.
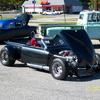
[[[91,39],[100,40],[100,11],[81,11],[77,25],[83,26]]]

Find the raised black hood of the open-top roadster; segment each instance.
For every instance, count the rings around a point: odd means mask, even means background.
[[[60,35],[79,59],[88,64],[94,63],[94,48],[85,30],[62,30]]]

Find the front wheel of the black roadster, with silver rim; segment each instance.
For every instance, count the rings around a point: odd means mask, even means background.
[[[54,59],[50,67],[52,76],[58,80],[65,80],[67,77],[67,70],[65,63],[61,59]]]

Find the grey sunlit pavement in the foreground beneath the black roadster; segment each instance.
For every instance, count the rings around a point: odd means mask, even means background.
[[[0,100],[100,100],[100,73],[59,81],[18,61],[14,67],[0,63]]]

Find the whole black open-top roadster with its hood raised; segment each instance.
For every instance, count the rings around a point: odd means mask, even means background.
[[[1,63],[12,66],[19,60],[27,66],[49,70],[58,80],[93,75],[99,68],[99,55],[84,30],[62,30],[53,39],[37,39],[37,44],[6,42],[0,52]]]

